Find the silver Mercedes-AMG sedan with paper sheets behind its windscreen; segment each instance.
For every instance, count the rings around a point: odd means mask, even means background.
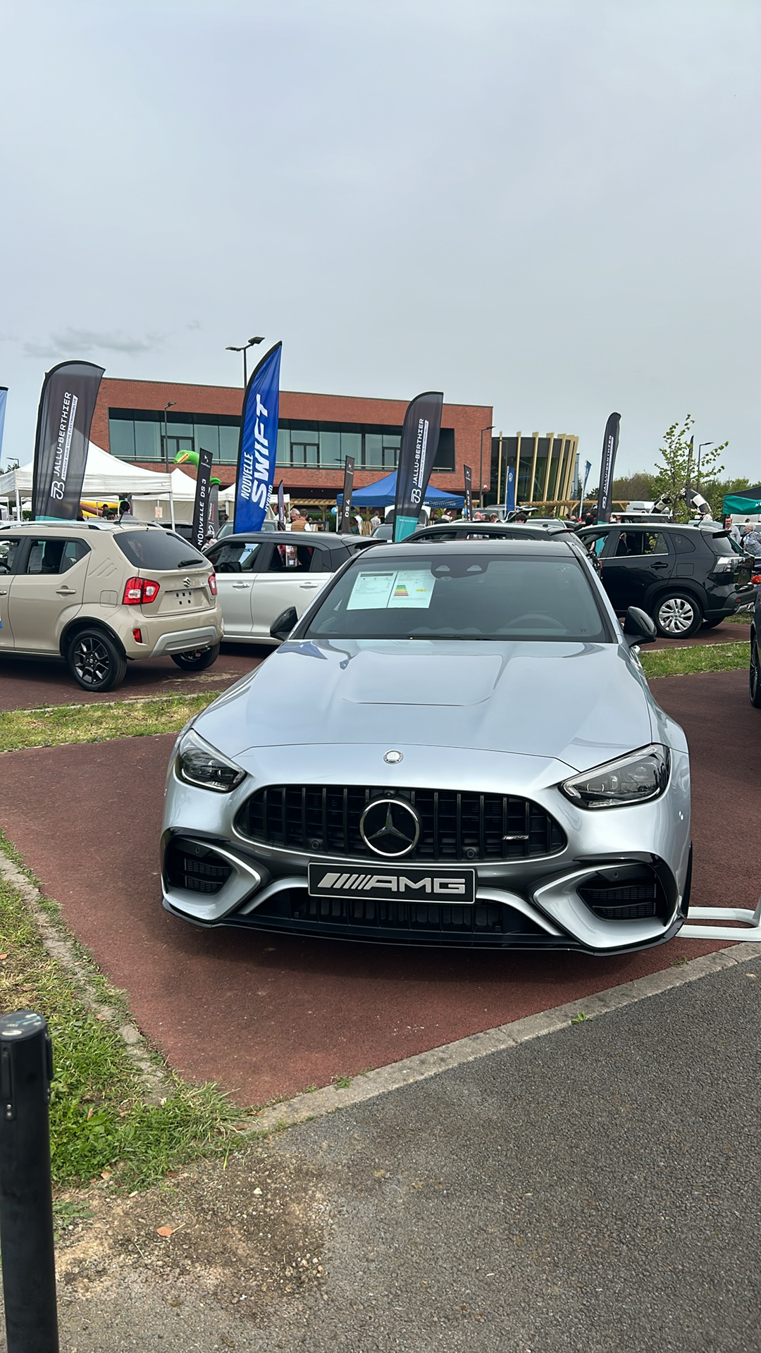
[[[563,540],[379,545],[180,733],[164,905],[198,925],[613,954],[689,901],[689,759]]]

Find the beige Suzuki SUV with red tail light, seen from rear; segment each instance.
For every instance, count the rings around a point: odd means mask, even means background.
[[[85,690],[111,690],[127,662],[215,662],[222,637],[209,560],[160,526],[0,526],[0,655],[60,653]]]

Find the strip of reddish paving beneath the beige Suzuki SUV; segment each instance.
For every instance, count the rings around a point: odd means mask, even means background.
[[[0,656],[0,710],[34,709],[35,705],[91,705],[104,700],[135,700],[146,695],[181,695],[207,689],[223,690],[245,676],[267,656],[255,644],[222,644],[222,652],[204,672],[183,672],[171,658],[127,663],[127,675],[116,690],[100,695],[83,690],[69,676],[60,658]]]

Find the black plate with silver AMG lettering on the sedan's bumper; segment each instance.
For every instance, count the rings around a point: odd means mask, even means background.
[[[394,902],[473,902],[474,869],[414,869],[378,865],[351,869],[339,865],[309,866],[310,897],[379,897]]]

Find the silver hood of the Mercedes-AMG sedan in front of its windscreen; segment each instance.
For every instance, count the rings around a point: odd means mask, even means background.
[[[249,748],[385,743],[554,758],[574,770],[662,740],[661,710],[623,645],[301,640],[195,720]]]

